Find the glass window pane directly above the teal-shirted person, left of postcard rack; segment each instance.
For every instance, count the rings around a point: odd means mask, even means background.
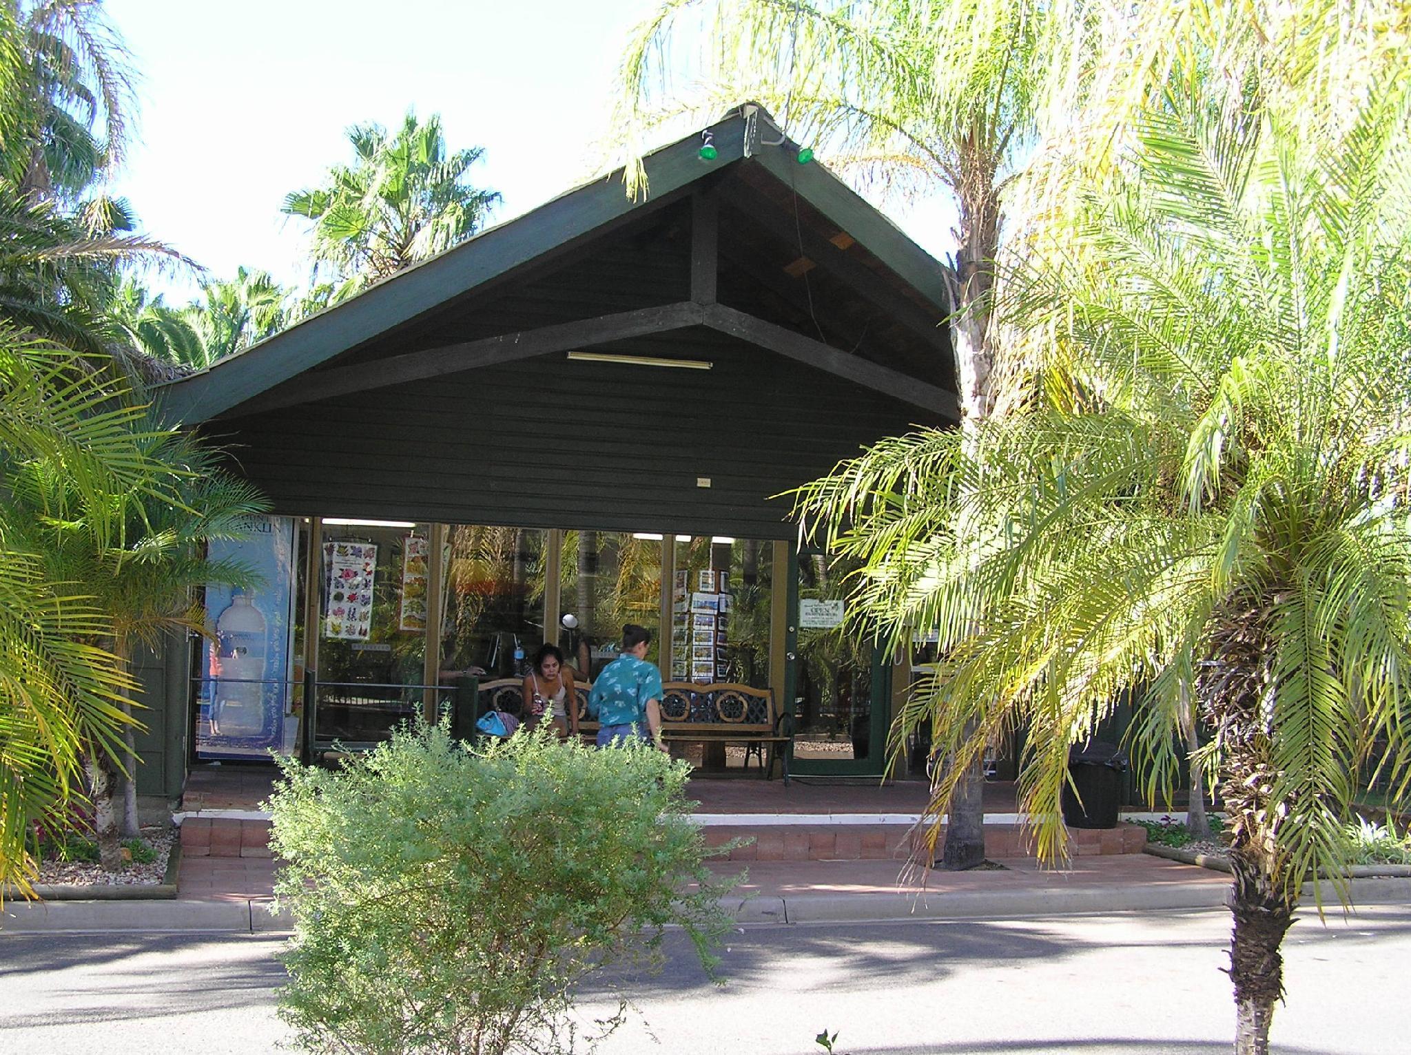
[[[652,632],[646,659],[660,666],[660,536],[569,530],[560,567],[559,604],[573,626],[560,628],[559,647],[580,678],[617,657],[625,623]]]

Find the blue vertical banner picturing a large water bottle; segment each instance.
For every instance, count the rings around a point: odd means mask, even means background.
[[[248,535],[212,542],[213,561],[238,561],[260,577],[253,590],[206,584],[205,671],[196,716],[196,755],[262,759],[288,752],[292,701],[295,529],[288,516],[251,516]],[[288,726],[288,729],[286,729]]]

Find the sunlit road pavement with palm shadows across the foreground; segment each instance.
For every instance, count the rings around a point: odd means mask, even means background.
[[[1233,1010],[1219,910],[1020,920],[745,927],[713,986],[673,935],[652,976],[619,973],[583,994],[584,1023],[618,997],[635,1010],[602,1047],[636,1052],[1229,1051]],[[278,939],[0,935],[0,1052],[264,1052]],[[1411,910],[1374,905],[1326,927],[1307,913],[1285,942],[1288,1004],[1276,1049],[1405,1049],[1394,1027]]]

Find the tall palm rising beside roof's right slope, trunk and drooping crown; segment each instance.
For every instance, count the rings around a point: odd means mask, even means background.
[[[694,7],[696,0],[667,0],[628,45],[618,123],[629,138],[658,89],[674,93],[669,63],[680,56],[667,45],[676,21]],[[954,199],[957,252],[945,278],[969,434],[993,408],[989,299],[1002,197],[1034,151],[1041,107],[1068,97],[1058,82],[1085,48],[1065,20],[1068,7],[1026,0],[718,0],[710,7],[700,48],[710,90],[698,102],[720,107],[758,99],[797,140],[837,147],[864,183]],[[976,764],[952,803],[945,867],[983,860],[982,784]]]

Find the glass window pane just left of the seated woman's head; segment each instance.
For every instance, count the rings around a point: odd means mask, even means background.
[[[446,537],[440,677],[519,677],[543,642],[547,532],[454,525]]]

